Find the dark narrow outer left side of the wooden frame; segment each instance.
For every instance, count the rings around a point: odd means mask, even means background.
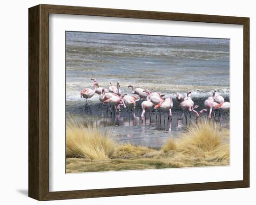
[[[28,13],[28,196],[40,199],[40,6]]]

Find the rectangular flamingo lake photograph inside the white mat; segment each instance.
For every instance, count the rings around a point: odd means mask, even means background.
[[[229,166],[230,39],[65,41],[66,173]]]

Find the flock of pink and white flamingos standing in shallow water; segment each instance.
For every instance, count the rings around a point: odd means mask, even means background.
[[[145,120],[145,112],[148,109],[153,108],[159,109],[163,112],[168,112],[168,120],[172,119],[172,108],[173,108],[173,94],[171,94],[167,98],[163,98],[163,94],[160,92],[152,92],[147,89],[135,88],[134,85],[129,85],[128,88],[131,88],[131,94],[137,95],[128,95],[126,93],[121,93],[120,83],[117,82],[117,86],[113,85],[110,82],[110,86],[108,89],[99,87],[99,83],[95,78],[91,78],[93,80],[93,89],[86,88],[81,91],[81,98],[86,99],[86,106],[88,106],[88,99],[94,96],[97,93],[100,97],[99,100],[104,103],[109,103],[115,108],[116,112],[121,112],[121,106],[132,111],[136,107],[136,102],[139,100],[144,100],[141,103],[141,120]],[[225,102],[224,98],[216,92],[213,91],[213,95],[209,96],[208,99],[204,101],[204,109],[201,111],[196,111],[195,109],[199,108],[198,105],[194,105],[192,98],[190,97],[191,92],[187,92],[187,96],[182,96],[182,94],[176,94],[176,100],[179,103],[178,106],[182,110],[182,117],[184,113],[190,115],[190,112],[194,112],[196,118],[198,118],[203,112],[208,112],[208,117],[211,118],[212,112],[214,113],[215,109],[220,109],[223,111],[229,110],[230,103]],[[89,107],[90,109],[90,107]],[[112,113],[112,108],[110,107],[110,113]],[[187,116],[187,115],[186,115]],[[191,115],[190,115],[191,117]]]

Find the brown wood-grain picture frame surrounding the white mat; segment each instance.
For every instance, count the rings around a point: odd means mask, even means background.
[[[49,192],[49,13],[243,25],[243,180]],[[249,18],[78,6],[29,8],[29,190],[37,200],[249,187]]]

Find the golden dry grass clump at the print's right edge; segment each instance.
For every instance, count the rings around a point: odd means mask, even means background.
[[[164,153],[175,151],[183,159],[209,162],[229,163],[229,130],[220,131],[220,127],[208,119],[202,119],[197,125],[192,125],[181,139],[173,141],[171,138],[162,147]],[[182,154],[182,155],[181,155]]]

